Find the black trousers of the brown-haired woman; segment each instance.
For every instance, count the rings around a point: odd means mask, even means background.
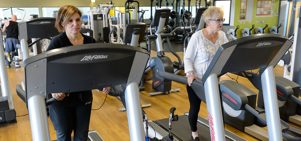
[[[50,119],[56,130],[57,141],[87,141],[92,108],[91,93],[70,93],[63,100],[49,105]]]

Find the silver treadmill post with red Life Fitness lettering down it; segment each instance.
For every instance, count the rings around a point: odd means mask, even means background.
[[[225,141],[225,129],[217,75],[211,74],[204,84],[211,141]]]

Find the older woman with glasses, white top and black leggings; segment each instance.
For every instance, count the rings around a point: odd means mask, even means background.
[[[202,80],[219,46],[228,42],[226,34],[221,31],[225,21],[223,15],[224,12],[221,8],[215,6],[211,6],[204,11],[202,16],[206,23],[206,28],[197,31],[191,36],[184,56],[185,73],[189,84],[186,88],[190,103],[188,120],[192,131],[192,141],[200,140],[197,134],[197,116],[200,111],[201,100],[190,85],[194,79]],[[220,97],[222,102],[222,96]]]

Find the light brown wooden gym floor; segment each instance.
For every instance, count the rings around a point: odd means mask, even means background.
[[[180,57],[183,59],[183,52],[177,52]],[[155,52],[151,52],[151,57],[156,55]],[[166,53],[167,56],[171,58],[172,61],[176,61],[175,56],[171,53]],[[251,58],[250,58],[251,59]],[[11,94],[14,100],[14,106],[17,112],[17,116],[28,114],[25,103],[17,96],[15,91],[15,86],[20,84],[21,81],[24,81],[24,72],[23,72],[23,63],[20,64],[21,68],[14,68],[12,65],[8,70],[8,78]],[[283,76],[283,68],[280,66],[275,67],[275,74]],[[254,70],[256,71],[256,70]],[[256,71],[257,72],[257,71]],[[234,78],[234,75],[230,75]],[[235,77],[236,78],[236,77]],[[221,77],[221,80],[231,80],[227,75]],[[258,92],[251,83],[242,77],[238,77],[238,82],[244,84],[245,86],[252,89],[254,92]],[[147,113],[149,120],[158,120],[162,118],[169,117],[169,109],[175,107],[175,114],[183,115],[185,112],[189,111],[189,101],[186,91],[186,86],[184,84],[172,82],[172,89],[181,88],[179,92],[170,93],[168,95],[158,95],[158,96],[149,96],[148,93],[155,92],[151,88],[151,81],[145,81],[145,91],[141,92],[141,104],[151,103],[151,107],[144,108],[144,111]],[[99,108],[106,97],[102,93],[98,93],[96,90],[93,90],[93,105],[92,109]],[[123,105],[121,101],[112,96],[107,96],[107,99],[99,110],[92,110],[90,127],[89,130],[96,130],[105,141],[129,141],[129,128],[127,122],[126,111],[120,112],[119,108],[122,108]],[[201,110],[199,115],[202,117],[207,117],[206,104],[201,104]],[[50,138],[51,140],[56,139],[55,130],[53,125],[48,117],[49,129],[50,129]],[[250,136],[247,133],[243,133],[229,125],[225,125],[225,128],[236,133],[237,135],[243,137],[247,140],[258,140],[253,136]],[[266,129],[266,128],[265,128]],[[202,132],[202,131],[198,131]],[[17,123],[7,124],[0,123],[0,141],[31,141],[31,129],[29,123],[29,116],[17,117]]]

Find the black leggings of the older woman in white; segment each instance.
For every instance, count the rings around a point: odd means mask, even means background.
[[[200,105],[201,105],[201,99],[197,96],[197,94],[194,92],[194,90],[191,88],[191,86],[186,86],[187,93],[188,93],[188,99],[190,103],[190,108],[189,108],[189,124],[192,132],[197,131],[197,117],[200,111]],[[221,89],[219,87],[219,97],[221,99],[221,105],[222,105],[222,115],[224,115],[224,108],[222,104],[222,95],[221,95]],[[225,127],[225,120],[223,116],[223,123]]]

